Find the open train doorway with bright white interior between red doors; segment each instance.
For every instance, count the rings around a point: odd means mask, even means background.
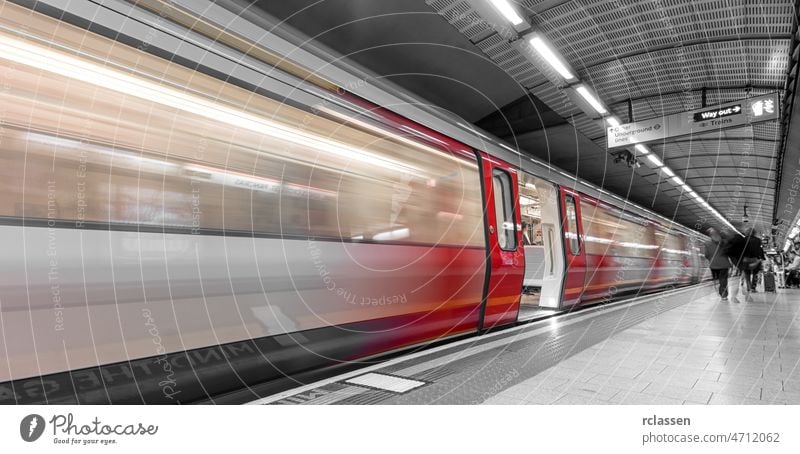
[[[519,320],[541,309],[557,309],[564,283],[564,242],[559,222],[558,188],[533,175],[519,174],[519,207],[525,250],[525,277]]]

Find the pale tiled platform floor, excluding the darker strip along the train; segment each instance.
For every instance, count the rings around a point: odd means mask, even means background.
[[[708,295],[573,355],[486,404],[800,404],[800,290]]]

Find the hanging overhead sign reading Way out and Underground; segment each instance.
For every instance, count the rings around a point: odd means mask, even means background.
[[[703,134],[778,119],[778,94],[681,112],[608,128],[608,148],[628,147],[670,137]]]

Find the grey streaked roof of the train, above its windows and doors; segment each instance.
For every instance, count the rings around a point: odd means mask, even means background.
[[[108,0],[102,8],[82,2],[68,2],[60,5],[60,8],[67,13],[61,16],[66,22],[85,28],[85,21],[88,20],[99,25],[93,29],[97,33],[138,43],[143,50],[212,73],[216,77],[236,81],[254,91],[271,93],[306,106],[314,106],[323,98],[340,107],[363,111],[363,107],[348,105],[342,97],[336,96],[330,86],[321,86],[325,81],[331,82],[427,128],[514,164],[525,172],[658,222],[665,228],[706,238],[697,231],[556,166],[519,152],[512,145],[460,117],[437,109],[323,45],[311,42],[288,24],[256,13],[245,3],[235,0],[174,0],[171,3],[171,9],[158,12],[121,0]],[[53,14],[52,10],[47,9],[41,12]],[[203,26],[197,26],[198,22],[193,17],[202,17]],[[171,21],[165,21],[165,18]],[[191,24],[192,30],[181,23]],[[230,39],[223,39],[222,33],[230,33]],[[261,57],[272,56],[273,61],[256,58],[254,54],[259,52],[253,50],[257,47],[263,48]],[[277,65],[274,61],[276,56],[279,60]],[[288,66],[290,71],[276,71],[273,65],[279,68]],[[298,67],[308,73],[298,74]]]

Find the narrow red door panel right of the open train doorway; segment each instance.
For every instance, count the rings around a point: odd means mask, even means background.
[[[566,248],[567,275],[564,279],[564,306],[580,303],[586,284],[586,251],[581,234],[580,195],[561,188],[561,225]]]

